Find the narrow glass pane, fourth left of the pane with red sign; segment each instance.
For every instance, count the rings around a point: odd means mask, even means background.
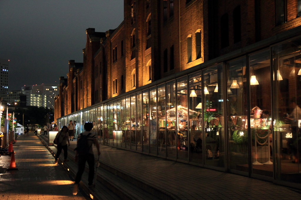
[[[166,134],[166,121],[165,121],[165,84],[157,87],[157,113],[158,113],[158,155],[166,156],[165,134]]]

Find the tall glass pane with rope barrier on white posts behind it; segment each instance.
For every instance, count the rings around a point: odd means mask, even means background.
[[[249,57],[252,173],[273,177],[270,51]]]

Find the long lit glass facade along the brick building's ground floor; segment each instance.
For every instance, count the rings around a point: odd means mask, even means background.
[[[301,39],[144,87],[57,119],[99,143],[301,183]],[[191,70],[190,70],[191,71]],[[293,186],[293,185],[291,185]]]

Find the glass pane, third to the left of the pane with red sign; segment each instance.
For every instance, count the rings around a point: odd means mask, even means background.
[[[177,158],[177,136],[176,136],[176,110],[175,110],[175,81],[166,83],[166,129],[167,129],[167,157]]]

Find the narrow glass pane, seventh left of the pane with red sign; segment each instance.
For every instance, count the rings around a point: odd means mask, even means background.
[[[137,114],[136,114],[136,134],[137,134],[137,151],[142,151],[142,93],[136,95]]]

